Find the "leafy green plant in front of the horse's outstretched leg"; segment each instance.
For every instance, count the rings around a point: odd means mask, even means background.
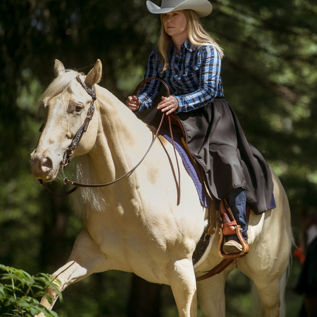
[[[50,303],[52,298],[46,294],[48,288],[61,292],[56,286],[56,279],[51,275],[40,273],[30,275],[21,270],[0,264],[0,315],[3,317],[30,317],[43,313],[46,317],[58,317],[58,315],[45,308],[36,298],[45,296]]]

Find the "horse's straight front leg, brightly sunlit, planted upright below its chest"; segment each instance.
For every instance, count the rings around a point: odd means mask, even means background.
[[[192,262],[182,259],[172,263],[168,278],[179,317],[196,317],[196,279]]]

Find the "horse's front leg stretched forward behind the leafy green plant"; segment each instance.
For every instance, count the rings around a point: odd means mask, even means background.
[[[107,264],[107,256],[100,251],[89,233],[82,230],[75,240],[67,263],[53,274],[53,277],[61,283],[54,283],[62,292],[68,285],[81,281],[93,273],[106,271],[109,269]],[[52,298],[52,304],[45,296],[41,304],[47,309],[52,309],[58,294],[52,288],[47,290],[47,294]],[[44,314],[41,313],[38,317],[44,317]]]

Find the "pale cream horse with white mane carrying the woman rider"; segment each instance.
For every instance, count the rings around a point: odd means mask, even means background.
[[[101,77],[98,60],[87,76],[90,87]],[[74,134],[83,124],[92,98],[75,80],[78,73],[65,71],[55,61],[55,80],[41,98],[44,127],[31,154],[34,177],[51,182]],[[129,171],[146,152],[153,129],[137,119],[113,94],[98,85],[94,117],[78,143],[79,181],[110,182]],[[196,283],[222,259],[217,252],[219,235],[214,234],[209,254],[193,267],[192,254],[206,225],[193,181],[180,166],[181,200],[177,204],[176,159],[171,144],[159,137],[144,161],[129,176],[103,188],[80,188],[71,196],[83,229],[67,263],[54,276],[61,291],[95,272],[134,272],[147,281],[171,286],[179,316],[197,316],[197,295],[206,317],[225,316],[224,284],[233,264],[222,273]],[[260,216],[251,212],[249,254],[237,260],[238,268],[254,282],[262,303],[259,315],[282,315],[280,309],[291,249],[288,200],[276,175],[274,196],[277,207]],[[54,302],[57,294],[49,290]],[[51,309],[45,297],[42,304]]]

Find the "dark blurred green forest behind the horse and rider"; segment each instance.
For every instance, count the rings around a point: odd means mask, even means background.
[[[86,74],[100,58],[100,85],[124,102],[143,79],[159,34],[159,16],[145,2],[0,1],[0,263],[35,274],[52,273],[67,260],[81,220],[68,198],[52,196],[31,176],[29,154],[42,124],[37,101],[54,78],[55,58]],[[225,51],[225,96],[285,187],[298,244],[305,214],[317,208],[317,4],[211,3],[202,22]],[[291,317],[302,301],[293,290],[299,272],[294,259],[286,293]],[[239,270],[230,274],[226,294],[227,316],[250,315],[250,285]],[[148,306],[152,313],[140,313]],[[166,286],[117,271],[70,286],[54,310],[60,317],[177,316]]]

